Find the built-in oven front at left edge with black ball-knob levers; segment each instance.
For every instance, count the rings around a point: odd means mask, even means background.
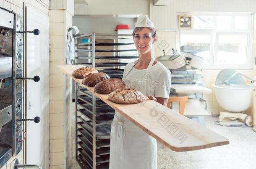
[[[0,8],[0,168],[23,147],[24,31],[21,15]],[[33,31],[32,31],[33,32]],[[35,30],[36,34],[39,30]],[[34,33],[34,32],[33,32]],[[35,76],[34,81],[39,81]],[[33,119],[34,120],[34,119]],[[39,122],[39,117],[35,122]]]

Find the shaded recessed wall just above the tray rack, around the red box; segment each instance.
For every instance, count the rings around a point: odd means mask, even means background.
[[[91,18],[86,16],[74,16],[73,25],[80,30],[79,34],[85,33],[116,33],[115,27],[118,24],[127,24],[130,29],[134,28],[135,18]]]

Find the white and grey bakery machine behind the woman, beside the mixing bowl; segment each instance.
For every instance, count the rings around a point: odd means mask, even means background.
[[[186,101],[184,115],[188,118],[205,123],[205,116],[208,114],[207,102],[204,99],[204,93],[211,93],[212,90],[203,86],[203,75],[200,73],[203,58],[197,55],[178,53],[177,50],[170,50],[171,54],[165,54],[157,57],[172,73],[172,84],[170,97],[188,96]],[[178,102],[173,102],[171,108],[179,112]]]

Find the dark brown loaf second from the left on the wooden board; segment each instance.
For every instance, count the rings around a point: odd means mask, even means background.
[[[83,84],[86,86],[95,86],[97,83],[109,78],[110,76],[104,72],[90,73],[83,79]]]

